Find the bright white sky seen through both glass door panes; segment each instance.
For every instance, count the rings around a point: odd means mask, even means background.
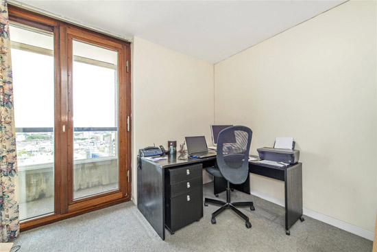
[[[33,67],[31,67],[33,66]],[[12,49],[16,128],[53,127],[53,57]],[[73,64],[73,126],[117,126],[114,69]]]

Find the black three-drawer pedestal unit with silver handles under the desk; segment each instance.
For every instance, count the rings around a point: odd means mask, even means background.
[[[202,164],[167,170],[165,225],[173,234],[203,217]]]

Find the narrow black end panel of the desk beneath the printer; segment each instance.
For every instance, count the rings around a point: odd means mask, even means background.
[[[289,229],[297,220],[302,218],[302,163],[288,168],[285,171],[285,231],[290,234]]]

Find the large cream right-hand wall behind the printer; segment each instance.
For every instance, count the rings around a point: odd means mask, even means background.
[[[376,1],[349,1],[215,65],[215,123],[253,130],[252,153],[294,137],[304,207],[374,231]],[[284,185],[252,175],[284,200]]]

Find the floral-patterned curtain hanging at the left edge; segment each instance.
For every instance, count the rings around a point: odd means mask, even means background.
[[[0,236],[8,242],[19,236],[19,195],[16,133],[13,111],[12,64],[8,4],[0,6]]]

